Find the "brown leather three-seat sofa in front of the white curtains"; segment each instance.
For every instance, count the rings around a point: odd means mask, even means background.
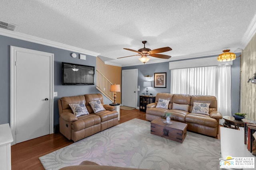
[[[156,107],[159,99],[170,100],[168,109]],[[210,103],[209,115],[191,113],[194,102]],[[188,111],[172,109],[173,103],[189,105]],[[222,115],[217,111],[217,99],[215,96],[158,93],[156,102],[147,105],[146,119],[152,121],[158,117],[162,118],[166,112],[171,113],[170,118],[172,120],[188,124],[188,131],[212,137],[216,137],[218,134],[219,120],[222,119]]]

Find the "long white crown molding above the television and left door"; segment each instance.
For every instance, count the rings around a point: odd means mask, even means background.
[[[29,42],[32,42],[32,43],[47,45],[47,46],[55,47],[55,48],[59,48],[59,49],[64,49],[64,50],[67,50],[67,51],[82,53],[82,54],[90,55],[90,56],[94,56],[94,57],[97,57],[98,55],[100,55],[100,53],[95,53],[93,51],[88,51],[88,50],[81,49],[81,48],[78,48],[78,47],[73,47],[73,46],[70,46],[70,45],[57,43],[55,41],[50,41],[48,39],[34,37],[32,35],[27,35],[27,34],[15,32],[15,31],[9,31],[9,30],[2,29],[2,28],[0,28],[0,35],[4,35],[4,36],[7,36],[7,37],[12,37],[12,38],[16,38],[16,39],[20,39],[20,40],[24,40],[24,41],[29,41]]]

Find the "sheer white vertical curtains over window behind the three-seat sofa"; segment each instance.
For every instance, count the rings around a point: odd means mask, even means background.
[[[208,66],[171,70],[171,93],[211,95],[218,100],[218,111],[231,115],[231,66]],[[224,120],[220,120],[220,124]]]

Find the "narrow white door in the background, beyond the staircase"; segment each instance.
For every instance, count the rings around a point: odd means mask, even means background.
[[[122,71],[122,104],[128,107],[137,107],[137,80],[138,70]]]

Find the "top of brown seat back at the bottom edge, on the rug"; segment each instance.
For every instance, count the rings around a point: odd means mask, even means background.
[[[67,166],[64,168],[60,168],[60,170],[146,170],[146,169],[122,168],[118,166],[104,166],[104,165],[96,164],[95,162],[85,160],[80,165]]]

